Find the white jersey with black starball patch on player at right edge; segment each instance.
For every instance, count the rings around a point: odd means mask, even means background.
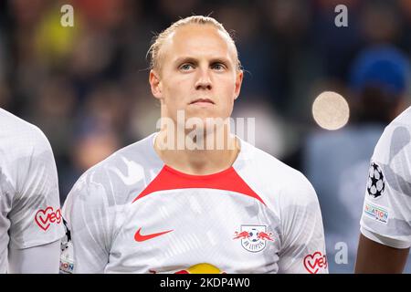
[[[385,128],[375,146],[361,232],[383,245],[411,246],[411,108]]]

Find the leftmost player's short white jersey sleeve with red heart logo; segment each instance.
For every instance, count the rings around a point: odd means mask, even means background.
[[[47,245],[64,235],[58,196],[58,174],[53,151],[43,132],[33,128],[26,150],[16,155],[16,176],[10,219],[10,247]]]

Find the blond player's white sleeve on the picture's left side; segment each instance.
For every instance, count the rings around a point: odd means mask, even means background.
[[[103,176],[101,176],[103,175]],[[63,206],[69,239],[61,255],[61,266],[72,264],[74,273],[103,273],[109,262],[112,235],[112,211],[115,208],[110,192],[102,182],[110,178],[92,169],[74,185]],[[111,202],[109,202],[111,201]],[[64,244],[64,243],[63,243]]]

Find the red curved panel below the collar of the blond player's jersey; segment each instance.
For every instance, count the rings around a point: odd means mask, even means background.
[[[223,172],[208,175],[192,175],[178,172],[167,165],[164,165],[161,172],[158,173],[153,181],[149,183],[149,185],[132,201],[132,203],[150,193],[175,189],[224,190],[242,193],[257,199],[263,204],[266,204],[259,197],[259,195],[255,193],[246,182],[244,182],[233,167],[230,167]]]

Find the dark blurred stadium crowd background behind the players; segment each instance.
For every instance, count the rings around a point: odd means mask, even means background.
[[[73,27],[60,25],[65,4]],[[335,26],[336,5],[348,26]],[[310,179],[330,272],[353,272],[374,145],[410,104],[411,0],[1,1],[0,107],[45,132],[64,203],[82,172],[156,130],[153,36],[210,14],[247,71],[233,116],[256,118],[256,146]]]

